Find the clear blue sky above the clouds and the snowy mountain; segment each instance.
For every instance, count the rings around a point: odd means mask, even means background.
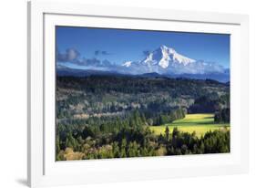
[[[230,35],[56,26],[58,52],[74,49],[80,58],[108,59],[122,64],[141,60],[144,51],[153,51],[161,45],[173,47],[186,57],[230,68]]]

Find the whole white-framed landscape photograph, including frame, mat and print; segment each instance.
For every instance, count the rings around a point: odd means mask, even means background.
[[[248,16],[28,3],[28,182],[248,171]]]

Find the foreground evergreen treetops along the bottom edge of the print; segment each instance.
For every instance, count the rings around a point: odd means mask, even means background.
[[[148,129],[123,128],[108,137],[84,138],[67,134],[66,147],[56,139],[56,160],[109,159],[141,156],[164,156],[230,152],[230,131],[209,131],[198,138],[195,132],[170,133],[156,136]]]

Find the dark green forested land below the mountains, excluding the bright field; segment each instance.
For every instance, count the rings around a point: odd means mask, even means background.
[[[149,126],[215,113],[230,121],[230,87],[214,80],[128,76],[56,77],[56,160],[230,151],[230,131],[198,138]]]

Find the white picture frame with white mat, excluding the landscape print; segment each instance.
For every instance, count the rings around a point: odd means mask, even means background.
[[[55,162],[55,26],[143,28],[231,35],[228,154]],[[28,183],[31,187],[248,172],[248,16],[32,1],[28,3]],[[150,165],[148,165],[150,164]]]

